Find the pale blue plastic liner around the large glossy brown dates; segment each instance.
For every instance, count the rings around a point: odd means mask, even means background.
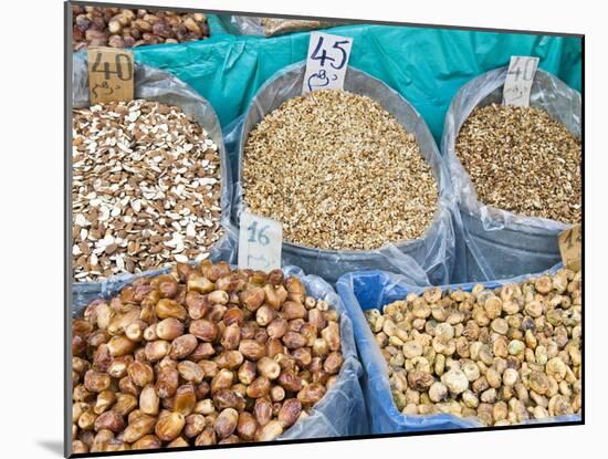
[[[109,299],[138,278],[154,277],[169,272],[170,267],[146,271],[137,274],[119,275],[98,282],[97,298]],[[363,375],[361,364],[357,358],[353,322],[346,314],[344,304],[335,290],[323,279],[316,275],[305,275],[297,267],[283,269],[285,277],[297,277],[306,288],[306,294],[317,300],[324,300],[339,314],[339,331],[342,355],[344,363],[338,373],[337,382],[327,390],[325,396],[313,407],[308,417],[301,419],[283,432],[277,440],[306,438],[335,438],[369,434],[366,404],[363,396],[359,378]],[[72,315],[82,315],[88,302],[81,301],[72,304]]]

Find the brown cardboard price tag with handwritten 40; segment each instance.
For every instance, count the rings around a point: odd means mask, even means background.
[[[88,50],[88,97],[91,105],[130,101],[134,95],[133,52],[116,48]]]

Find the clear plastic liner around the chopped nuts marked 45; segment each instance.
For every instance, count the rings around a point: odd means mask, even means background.
[[[305,63],[287,66],[269,80],[251,102],[244,119],[232,125],[226,133],[230,145],[229,157],[232,160],[233,205],[231,225],[238,228],[242,201],[241,158],[249,133],[262,118],[277,108],[289,98],[301,95]],[[284,265],[297,264],[306,272],[321,275],[334,283],[342,274],[361,269],[384,269],[408,275],[416,284],[438,284],[449,282],[454,263],[454,229],[451,212],[455,200],[451,184],[439,156],[431,133],[424,121],[413,107],[385,83],[365,72],[348,67],[344,88],[363,94],[379,102],[409,132],[415,134],[420,152],[430,165],[439,188],[439,200],[433,221],[420,239],[387,243],[380,249],[363,250],[321,250],[283,242],[282,261]],[[237,140],[238,139],[238,140]],[[233,150],[238,148],[237,153]]]

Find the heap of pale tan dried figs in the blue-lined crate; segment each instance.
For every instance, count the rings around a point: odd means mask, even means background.
[[[472,292],[431,288],[366,317],[405,415],[488,426],[580,414],[581,274]]]

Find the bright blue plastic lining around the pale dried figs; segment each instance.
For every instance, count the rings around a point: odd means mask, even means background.
[[[555,272],[560,265],[555,265],[548,272]],[[513,279],[484,282],[489,289],[506,283],[522,282],[531,277],[526,274]],[[445,289],[462,289],[471,291],[476,283],[452,284]],[[402,275],[382,271],[359,271],[343,275],[336,283],[336,289],[346,307],[346,313],[353,321],[355,341],[364,367],[363,388],[369,411],[371,434],[416,432],[428,430],[449,430],[470,427],[483,427],[475,418],[439,414],[428,416],[406,416],[401,414],[392,400],[388,379],[388,366],[367,324],[364,311],[370,309],[384,310],[384,306],[402,300],[408,293],[422,293],[424,286],[411,285]],[[531,420],[526,424],[565,423],[580,420],[580,416],[559,416],[542,420]]]

